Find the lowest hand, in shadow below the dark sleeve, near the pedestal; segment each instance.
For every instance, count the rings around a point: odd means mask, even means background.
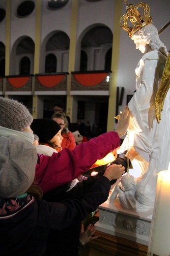
[[[91,240],[96,239],[98,236],[92,236],[94,232],[96,231],[95,226],[92,224],[89,224],[85,231],[84,231],[84,225],[81,225],[81,233],[80,233],[80,242],[85,245],[86,243],[90,242]]]

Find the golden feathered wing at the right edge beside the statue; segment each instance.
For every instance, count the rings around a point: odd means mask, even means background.
[[[170,52],[164,67],[161,84],[155,98],[155,114],[156,114],[156,120],[158,124],[159,124],[159,121],[161,120],[161,112],[163,110],[165,97],[169,89],[170,89]]]

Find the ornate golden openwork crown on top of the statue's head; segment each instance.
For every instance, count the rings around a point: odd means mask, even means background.
[[[149,15],[150,8],[149,5],[144,2],[133,5],[128,3],[127,0],[124,1],[126,3],[126,14],[120,19],[120,27],[127,31],[129,36],[132,36],[137,30],[152,23],[152,17]],[[139,7],[143,7],[143,16],[138,11]],[[128,19],[133,24],[133,27],[128,26]],[[123,23],[121,23],[121,20],[123,20]]]

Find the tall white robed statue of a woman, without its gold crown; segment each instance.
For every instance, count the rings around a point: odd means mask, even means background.
[[[159,124],[155,115],[155,97],[168,51],[151,23],[138,29],[131,38],[144,55],[135,70],[136,93],[128,104],[132,113],[127,135],[129,142],[126,136],[122,152],[132,147],[129,158],[140,160],[141,177],[134,179],[126,174],[127,177],[124,176],[113,188],[108,201],[113,204],[116,198],[123,208],[147,211],[154,206],[157,174],[168,170],[170,163],[170,90],[165,97]]]

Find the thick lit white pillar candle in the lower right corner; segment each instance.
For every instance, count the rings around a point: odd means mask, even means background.
[[[170,256],[170,171],[158,173],[147,256]]]

